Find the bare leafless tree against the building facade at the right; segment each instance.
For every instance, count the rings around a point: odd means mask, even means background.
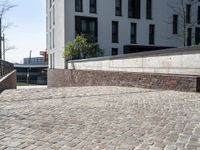
[[[168,2],[169,8],[173,11],[174,15],[177,15],[178,21],[178,32],[170,38],[178,39],[183,46],[188,46],[188,38],[190,36],[188,35],[188,29],[192,29],[197,25],[197,19],[193,18],[196,15],[194,15],[192,8],[193,6],[197,6],[199,0],[170,0]],[[173,24],[173,21],[170,24]],[[191,39],[193,37],[191,35]]]

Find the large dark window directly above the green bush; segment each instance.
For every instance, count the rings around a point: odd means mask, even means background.
[[[94,17],[81,17],[75,16],[75,33],[77,34],[87,34],[95,42],[98,41],[98,25],[97,18]]]

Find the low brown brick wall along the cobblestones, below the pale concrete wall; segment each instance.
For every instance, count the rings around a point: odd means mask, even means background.
[[[200,92],[200,76],[54,69],[48,70],[48,86],[133,86]]]

